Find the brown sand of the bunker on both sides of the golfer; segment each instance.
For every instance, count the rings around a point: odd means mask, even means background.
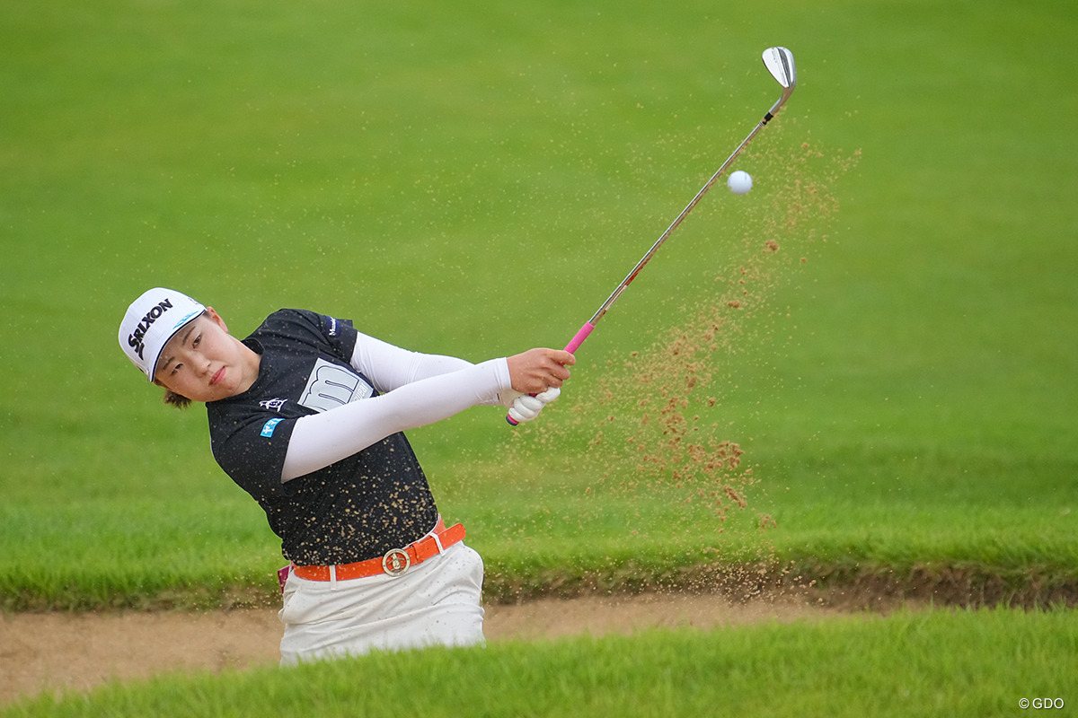
[[[948,606],[1001,605],[1007,581],[969,569],[914,571],[901,579],[880,569],[860,576],[832,572],[823,581],[794,580],[785,590],[653,590],[636,593],[580,592],[575,599],[545,596],[517,603],[487,603],[484,631],[490,642],[545,640],[570,635],[633,634],[651,629],[702,631],[762,622],[831,620],[932,610]],[[700,586],[700,583],[697,583]],[[1039,595],[1039,597],[1038,597]],[[1051,596],[1056,600],[1049,601]],[[1078,605],[1078,581],[1051,595],[1027,587],[1024,603]],[[1005,602],[1006,603],[1006,602]],[[6,614],[0,619],[0,706],[41,691],[85,691],[114,680],[138,680],[174,672],[273,665],[278,660],[277,607],[209,611],[68,611]],[[155,636],[147,642],[146,635]]]

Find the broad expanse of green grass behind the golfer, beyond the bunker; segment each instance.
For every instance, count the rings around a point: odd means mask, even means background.
[[[543,426],[415,433],[443,510],[499,573],[763,545],[1074,580],[1075,11],[780,8],[5,3],[4,605],[271,580],[276,540],[199,411],[158,406],[114,346],[139,291],[190,291],[237,333],[290,305],[472,360],[559,346],[775,99],[755,58],[776,42],[801,85],[740,160],[757,188],[697,207]],[[687,394],[717,398],[702,436],[754,471],[725,523],[708,477],[638,470],[648,389],[624,363],[746,265],[751,307]]]

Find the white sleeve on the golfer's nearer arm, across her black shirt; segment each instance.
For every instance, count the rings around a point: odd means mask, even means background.
[[[402,350],[398,350],[402,351]],[[458,360],[459,361],[459,360]],[[390,434],[447,419],[488,403],[511,386],[505,358],[427,377],[295,422],[281,481],[310,474],[350,456]],[[369,367],[364,367],[367,371]],[[374,378],[371,378],[374,381]]]

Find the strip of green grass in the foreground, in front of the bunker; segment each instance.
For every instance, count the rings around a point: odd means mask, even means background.
[[[1067,694],[1073,610],[849,617],[168,675],[2,716],[996,716]]]

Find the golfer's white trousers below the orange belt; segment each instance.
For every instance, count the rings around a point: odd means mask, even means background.
[[[482,644],[483,560],[464,541],[402,576],[285,583],[281,665],[372,650]]]

